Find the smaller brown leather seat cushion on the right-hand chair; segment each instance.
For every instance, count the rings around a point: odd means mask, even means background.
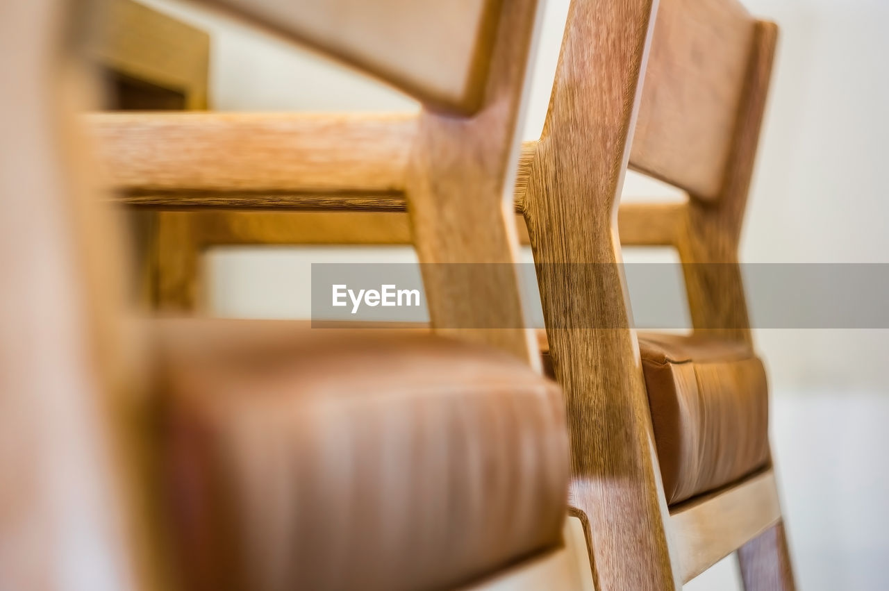
[[[669,504],[732,483],[769,459],[762,362],[742,343],[640,332],[654,440]],[[541,345],[545,344],[545,333]],[[544,357],[544,365],[552,364]]]

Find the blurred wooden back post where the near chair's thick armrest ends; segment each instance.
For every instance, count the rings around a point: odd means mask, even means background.
[[[475,116],[422,112],[405,195],[420,262],[436,263],[422,266],[433,328],[461,327],[445,332],[499,347],[540,369],[533,331],[522,328],[518,269],[466,264],[517,261],[517,119],[538,20],[536,0],[516,0],[502,12],[484,104]]]

